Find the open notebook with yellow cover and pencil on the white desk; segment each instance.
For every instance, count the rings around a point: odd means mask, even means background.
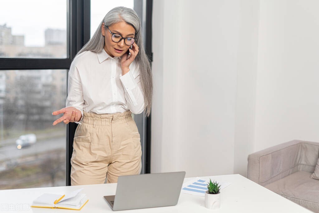
[[[31,207],[80,210],[89,201],[86,194],[80,194],[82,189],[64,195],[42,194],[33,201]]]

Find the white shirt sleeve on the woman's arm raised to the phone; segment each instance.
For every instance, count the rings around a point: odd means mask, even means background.
[[[136,62],[133,69],[130,67],[130,71],[122,76],[120,79],[124,87],[124,96],[130,111],[134,114],[140,114],[144,111],[144,95],[140,80],[140,66]]]

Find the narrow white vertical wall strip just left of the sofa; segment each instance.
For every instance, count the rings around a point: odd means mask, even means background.
[[[259,1],[239,2],[234,173],[246,177],[247,156],[254,152]]]

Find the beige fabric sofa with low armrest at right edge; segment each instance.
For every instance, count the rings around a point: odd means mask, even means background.
[[[248,178],[319,213],[319,180],[310,178],[319,143],[289,141],[248,156]]]

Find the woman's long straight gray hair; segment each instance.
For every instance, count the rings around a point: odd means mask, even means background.
[[[150,61],[145,53],[144,43],[142,38],[141,21],[137,16],[137,13],[126,7],[115,7],[110,10],[104,19],[101,21],[99,27],[96,29],[93,37],[78,51],[77,55],[86,50],[93,52],[100,52],[104,48],[104,36],[102,35],[102,23],[105,26],[125,21],[135,29],[136,44],[139,48],[139,52],[134,60],[137,60],[140,65],[140,79],[142,85],[142,92],[145,102],[145,115],[148,117],[151,113],[152,107],[152,95],[153,95],[153,80]],[[76,56],[77,56],[76,55]]]

